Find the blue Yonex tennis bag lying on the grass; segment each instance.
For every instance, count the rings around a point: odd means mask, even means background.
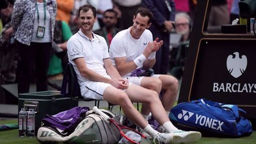
[[[171,122],[181,130],[200,131],[203,136],[240,137],[252,134],[246,112],[236,105],[199,99],[171,109]]]

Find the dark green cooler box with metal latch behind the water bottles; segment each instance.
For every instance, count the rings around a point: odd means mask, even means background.
[[[78,101],[72,100],[69,97],[64,97],[60,91],[43,91],[35,93],[19,94],[18,111],[25,108],[35,110],[35,135],[41,126],[41,120],[44,115],[54,115],[59,112],[69,110],[78,106]]]

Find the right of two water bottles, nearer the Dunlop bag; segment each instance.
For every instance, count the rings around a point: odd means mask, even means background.
[[[35,111],[29,109],[27,120],[27,136],[33,137],[35,135]]]

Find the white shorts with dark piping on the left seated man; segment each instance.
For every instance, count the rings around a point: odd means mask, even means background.
[[[129,86],[131,84],[132,83],[129,82]],[[109,83],[90,81],[84,88],[85,90],[82,93],[82,96],[84,98],[104,100],[103,93],[105,89],[109,86],[111,86],[111,84]],[[122,91],[126,91],[126,89]]]

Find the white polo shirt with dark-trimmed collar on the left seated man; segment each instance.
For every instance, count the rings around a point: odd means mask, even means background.
[[[80,85],[81,93],[86,85],[91,81],[81,76],[75,62],[76,58],[84,58],[87,68],[99,75],[110,78],[106,69],[103,67],[103,59],[109,58],[108,45],[106,40],[93,33],[93,39],[90,40],[81,30],[74,34],[67,42],[68,60],[72,63]]]

